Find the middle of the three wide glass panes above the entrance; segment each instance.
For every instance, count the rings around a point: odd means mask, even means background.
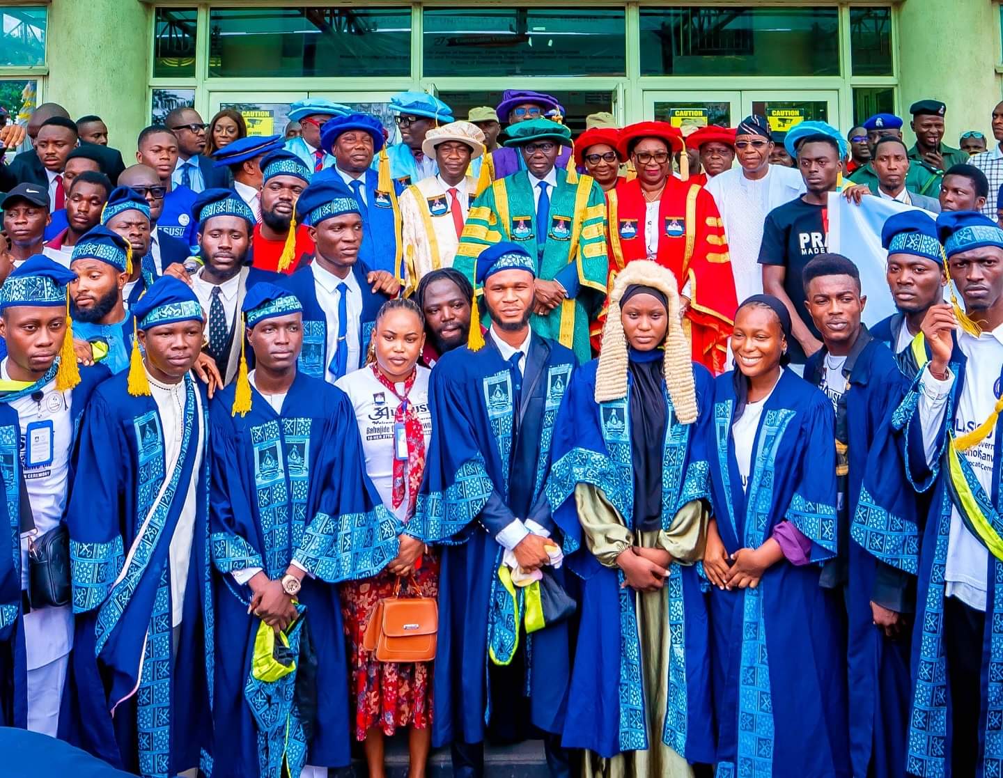
[[[436,8],[422,24],[426,76],[625,73],[622,8]]]

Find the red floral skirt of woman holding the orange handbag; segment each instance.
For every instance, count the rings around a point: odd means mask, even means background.
[[[397,727],[424,729],[431,724],[432,663],[379,662],[374,652],[362,649],[362,637],[377,603],[393,597],[396,584],[397,576],[384,570],[339,586],[352,673],[349,693],[355,699],[355,739],[359,741],[373,727],[392,735]],[[437,597],[438,559],[425,554],[421,568],[402,591],[405,596]]]

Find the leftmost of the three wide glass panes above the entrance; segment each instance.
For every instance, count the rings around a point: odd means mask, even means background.
[[[209,74],[407,76],[409,8],[214,8]]]

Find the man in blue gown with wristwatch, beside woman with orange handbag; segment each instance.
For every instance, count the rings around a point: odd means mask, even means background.
[[[307,529],[321,511],[369,514],[374,527],[395,519],[363,474],[348,398],[296,368],[303,338],[299,301],[262,283],[248,292],[244,313],[256,368],[210,407],[217,605],[213,775],[272,778],[285,763],[291,775],[326,778],[328,767],[347,765],[350,757],[345,639],[337,588],[313,577],[303,578],[301,588],[297,561],[312,553],[305,548]],[[391,537],[388,549],[396,541]],[[363,546],[360,535],[354,551]],[[360,566],[350,576],[376,572]],[[273,627],[291,634],[300,668],[310,667],[306,645],[312,647],[316,668],[310,677],[301,678],[299,670],[274,682],[258,677],[256,639]],[[294,695],[304,683],[317,698],[309,716]]]

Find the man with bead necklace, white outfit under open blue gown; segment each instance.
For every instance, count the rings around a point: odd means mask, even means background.
[[[212,748],[208,407],[190,372],[203,311],[163,277],[132,313],[131,366],[91,397],[66,514],[77,618],[62,726],[166,778],[207,767]]]

